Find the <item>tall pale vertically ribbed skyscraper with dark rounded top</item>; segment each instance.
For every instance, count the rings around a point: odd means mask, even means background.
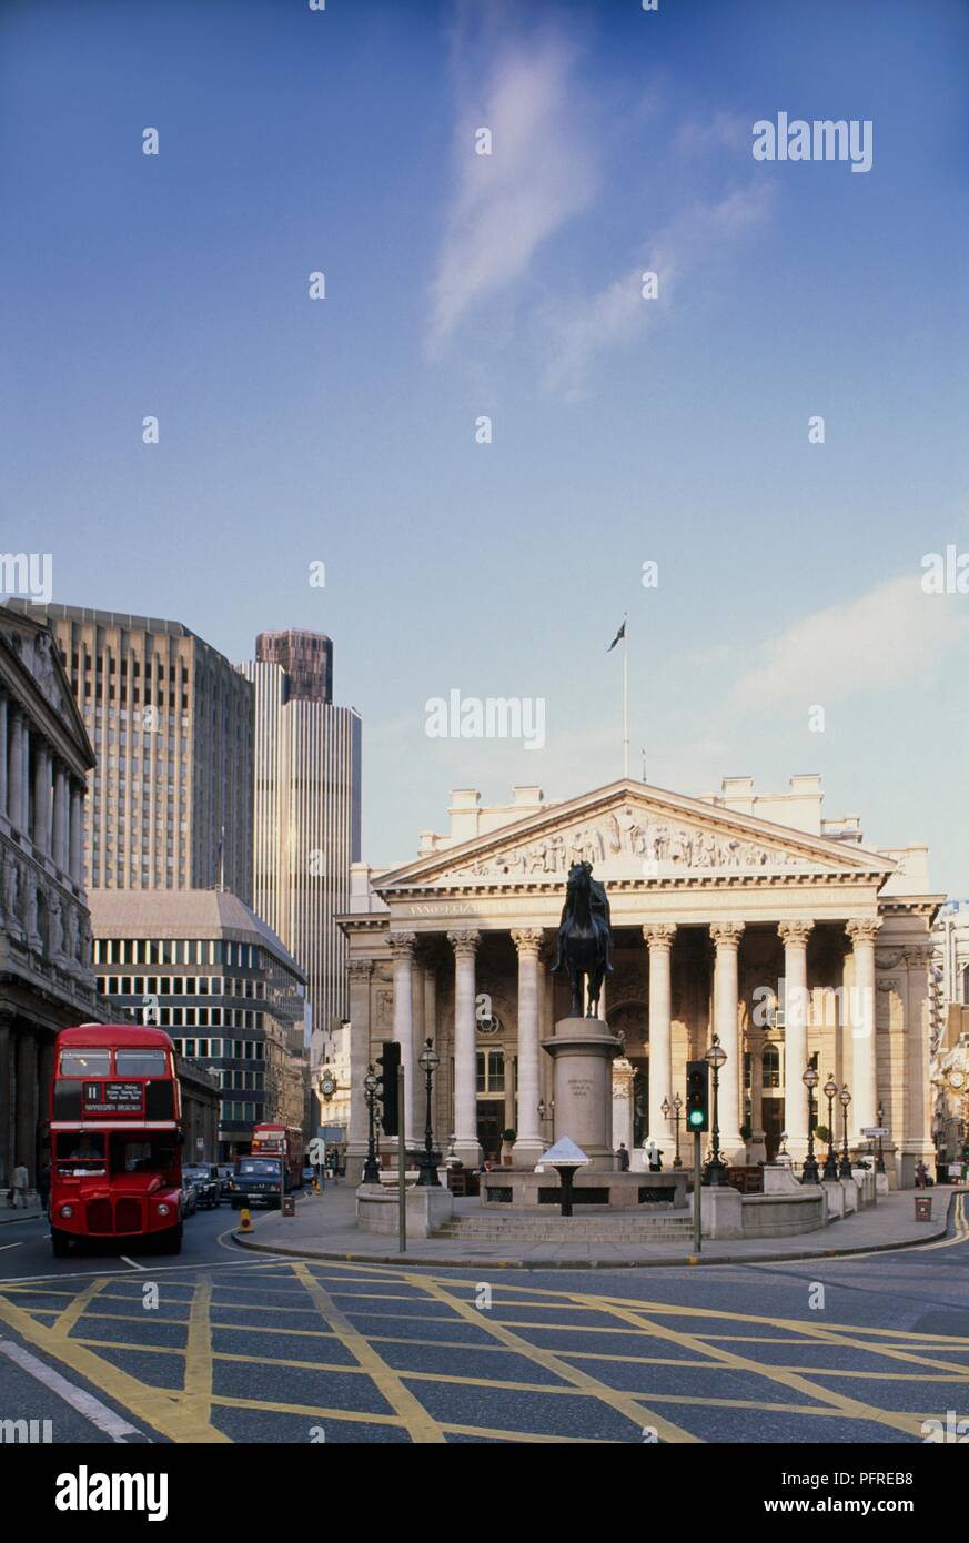
[[[238,665],[256,699],[253,906],[306,967],[316,1065],[347,1017],[336,917],[360,859],[361,722],[355,708],[329,699],[329,637],[261,633],[256,650],[275,659]]]

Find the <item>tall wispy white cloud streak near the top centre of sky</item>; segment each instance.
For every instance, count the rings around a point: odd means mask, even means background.
[[[537,247],[593,198],[574,62],[554,35],[532,39],[528,51],[505,45],[480,94],[460,106],[455,190],[432,282],[432,350],[474,306],[520,278]],[[478,128],[491,130],[491,156],[475,154]]]

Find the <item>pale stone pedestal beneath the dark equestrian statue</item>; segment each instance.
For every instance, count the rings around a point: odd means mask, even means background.
[[[613,1060],[620,1054],[619,1040],[602,1018],[560,1018],[542,1049],[555,1063],[554,1140],[574,1140],[591,1159],[586,1173],[613,1171]]]

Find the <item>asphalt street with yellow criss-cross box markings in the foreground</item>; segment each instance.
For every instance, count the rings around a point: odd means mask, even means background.
[[[969,1216],[792,1264],[444,1270],[244,1253],[54,1261],[0,1227],[0,1420],[56,1443],[892,1443],[969,1420]],[[326,1205],[307,1197],[301,1205]]]

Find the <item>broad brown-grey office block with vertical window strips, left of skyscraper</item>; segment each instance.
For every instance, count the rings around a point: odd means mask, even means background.
[[[9,602],[51,625],[97,764],[88,889],[207,889],[252,900],[253,691],[181,622]]]

